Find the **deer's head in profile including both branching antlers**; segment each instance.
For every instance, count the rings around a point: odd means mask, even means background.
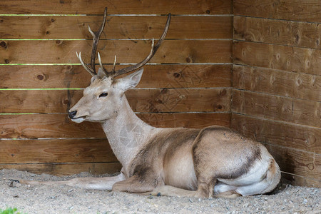
[[[96,73],[95,61],[96,61],[96,51],[98,46],[99,37],[103,32],[103,28],[106,23],[107,8],[105,8],[103,23],[101,28],[93,32],[88,26],[88,30],[93,36],[93,45],[91,51],[91,63],[88,66],[81,59],[81,53],[76,53],[79,61],[83,68],[91,73],[91,84],[83,91],[83,97],[68,111],[68,116],[72,121],[76,123],[81,123],[83,121],[106,121],[109,118],[116,117],[118,111],[121,110],[121,102],[124,97],[125,91],[129,88],[134,88],[137,86],[141,80],[143,74],[143,68],[148,61],[156,54],[159,46],[163,43],[165,36],[168,31],[170,24],[170,14],[168,14],[168,19],[165,24],[165,29],[161,39],[158,40],[158,43],[154,45],[154,40],[152,40],[151,52],[148,56],[141,62],[128,66],[126,68],[121,68],[115,70],[116,67],[116,56],[113,63],[113,68],[111,71],[107,71],[101,62],[101,56],[98,53],[98,61],[100,67],[98,68],[98,73]],[[138,71],[135,71],[139,69]],[[125,73],[135,71],[123,78],[116,78]]]

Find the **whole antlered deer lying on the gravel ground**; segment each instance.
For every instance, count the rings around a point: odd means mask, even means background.
[[[152,40],[151,52],[143,61],[116,70],[115,56],[113,68],[108,71],[98,52],[96,72],[97,46],[106,16],[107,8],[98,31],[93,32],[88,26],[93,36],[91,63],[84,63],[81,53],[76,53],[92,77],[83,97],[68,111],[68,117],[76,123],[101,123],[122,165],[121,173],[103,178],[21,183],[195,198],[235,198],[274,190],[280,182],[280,168],[258,141],[223,126],[156,128],[138,118],[131,109],[125,92],[138,85],[142,67],[163,43],[171,14],[161,39],[156,45]]]

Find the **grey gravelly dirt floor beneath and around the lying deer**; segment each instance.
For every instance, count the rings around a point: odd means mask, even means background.
[[[236,199],[175,198],[84,190],[66,185],[20,185],[10,179],[67,180],[68,177],[0,170],[0,209],[21,213],[321,213],[321,189],[282,185],[274,195]]]

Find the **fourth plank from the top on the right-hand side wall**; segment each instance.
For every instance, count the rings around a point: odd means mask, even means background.
[[[306,73],[234,65],[233,88],[321,101],[321,76]]]

